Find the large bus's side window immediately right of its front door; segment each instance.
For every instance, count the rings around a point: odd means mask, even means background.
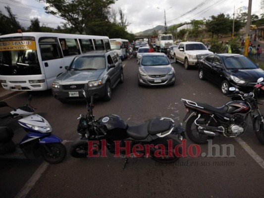
[[[59,39],[63,56],[78,55],[80,54],[77,39]]]

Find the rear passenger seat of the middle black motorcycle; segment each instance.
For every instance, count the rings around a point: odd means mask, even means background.
[[[168,120],[160,120],[158,118],[150,121],[148,126],[148,132],[151,135],[156,135],[158,133],[162,133],[164,131],[169,130],[171,127],[171,122]]]

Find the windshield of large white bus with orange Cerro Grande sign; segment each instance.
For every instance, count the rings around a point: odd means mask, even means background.
[[[41,69],[35,41],[0,42],[0,75],[37,74]]]

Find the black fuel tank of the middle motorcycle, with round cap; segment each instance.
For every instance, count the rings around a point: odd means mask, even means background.
[[[105,115],[98,120],[100,124],[107,128],[107,136],[116,137],[115,140],[127,138],[127,124],[118,115]]]

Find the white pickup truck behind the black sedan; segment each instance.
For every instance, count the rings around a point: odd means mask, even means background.
[[[173,51],[174,61],[183,63],[185,69],[197,66],[199,59],[213,53],[201,42],[181,42]]]

